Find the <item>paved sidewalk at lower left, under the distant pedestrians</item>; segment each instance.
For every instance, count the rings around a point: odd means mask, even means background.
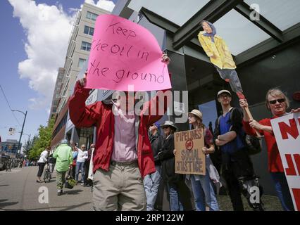
[[[38,167],[12,169],[11,172],[0,171],[0,210],[92,210],[91,188],[81,185],[64,189],[61,196],[56,195],[56,174],[50,183],[37,183]],[[39,203],[42,188],[49,190],[49,203]]]

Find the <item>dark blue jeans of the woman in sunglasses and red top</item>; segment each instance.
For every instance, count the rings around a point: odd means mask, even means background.
[[[285,173],[270,172],[270,175],[274,181],[277,196],[282,205],[282,209],[285,211],[294,211],[294,205],[291,193],[289,192],[289,186]]]

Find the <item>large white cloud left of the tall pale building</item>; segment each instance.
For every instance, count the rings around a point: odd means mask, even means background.
[[[63,67],[73,18],[61,5],[36,4],[31,0],[8,0],[13,17],[20,18],[25,30],[27,59],[18,65],[20,78],[29,79],[29,86],[39,94],[31,98],[31,108],[50,107],[58,68]]]

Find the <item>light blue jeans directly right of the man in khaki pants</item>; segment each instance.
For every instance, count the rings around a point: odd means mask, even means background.
[[[158,193],[158,186],[161,182],[161,166],[155,166],[156,172],[148,174],[144,178],[144,189],[146,192],[147,211],[154,210],[154,204]]]

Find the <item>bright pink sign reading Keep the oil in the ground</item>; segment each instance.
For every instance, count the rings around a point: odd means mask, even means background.
[[[116,15],[96,19],[87,88],[128,91],[170,89],[170,77],[156,38]]]

